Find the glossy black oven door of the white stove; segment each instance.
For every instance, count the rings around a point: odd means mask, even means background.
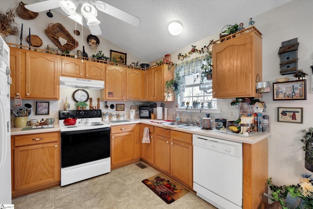
[[[110,127],[61,132],[61,168],[110,157]]]

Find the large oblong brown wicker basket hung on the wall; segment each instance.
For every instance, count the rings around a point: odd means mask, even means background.
[[[69,34],[67,29],[65,29],[61,23],[50,23],[45,29],[45,33],[51,41],[61,49],[61,51],[70,51],[78,46],[78,42]],[[67,40],[67,43],[62,46],[59,42],[59,37]]]

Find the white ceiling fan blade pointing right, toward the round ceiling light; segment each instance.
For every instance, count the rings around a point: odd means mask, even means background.
[[[90,4],[94,5],[99,11],[107,13],[108,15],[111,15],[117,19],[120,19],[121,21],[124,21],[126,23],[130,23],[134,26],[138,26],[141,22],[140,18],[125,12],[121,9],[118,9],[108,3],[105,3],[101,0],[90,0]]]

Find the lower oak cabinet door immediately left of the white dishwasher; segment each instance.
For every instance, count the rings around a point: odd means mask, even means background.
[[[192,187],[192,145],[171,139],[171,175]]]

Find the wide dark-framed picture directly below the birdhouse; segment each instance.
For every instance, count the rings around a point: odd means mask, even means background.
[[[287,81],[273,83],[273,100],[305,100],[307,99],[306,81]]]

